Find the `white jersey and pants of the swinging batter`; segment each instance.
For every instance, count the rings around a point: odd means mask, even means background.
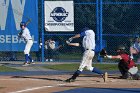
[[[87,70],[93,71],[94,67],[92,67],[92,59],[95,55],[95,33],[93,30],[86,30],[80,33],[80,37],[82,36],[84,36],[82,44],[85,52],[78,70],[83,71],[86,67]]]

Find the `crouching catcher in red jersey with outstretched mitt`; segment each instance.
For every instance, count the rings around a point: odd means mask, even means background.
[[[118,55],[112,56],[107,55],[107,52],[105,49],[102,49],[100,52],[101,56],[107,57],[109,59],[119,59],[118,68],[121,72],[123,79],[134,79],[139,80],[140,76],[138,74],[138,67],[136,66],[133,59],[130,58],[130,55],[126,53],[125,47],[123,45],[118,46],[117,48]]]

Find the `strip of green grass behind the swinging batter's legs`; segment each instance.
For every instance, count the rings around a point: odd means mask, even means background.
[[[100,68],[102,70],[118,70],[117,64],[93,64],[94,67]],[[56,65],[47,65],[44,68],[53,69],[53,70],[67,70],[74,71],[78,69],[79,64],[56,64]]]

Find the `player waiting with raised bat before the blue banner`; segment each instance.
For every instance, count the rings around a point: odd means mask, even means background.
[[[33,40],[32,40],[32,37],[30,35],[29,29],[26,27],[26,23],[21,22],[20,27],[21,27],[21,32],[18,34],[18,36],[20,38],[23,38],[25,40],[25,42],[26,42],[26,46],[25,46],[25,49],[24,49],[25,62],[23,64],[23,66],[27,66],[27,65],[29,65],[31,63],[34,63],[33,60],[32,60],[31,55],[29,54],[30,49],[31,49],[31,47],[33,45]]]

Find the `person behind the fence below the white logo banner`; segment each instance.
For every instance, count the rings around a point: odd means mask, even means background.
[[[55,49],[55,41],[53,39],[49,39],[45,42],[45,58],[46,61],[53,61],[53,54]]]

